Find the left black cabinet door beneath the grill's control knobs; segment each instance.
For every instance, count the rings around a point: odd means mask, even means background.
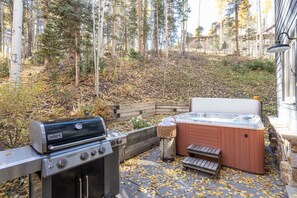
[[[81,178],[81,167],[76,167],[54,175],[52,177],[52,197],[78,198],[80,190],[79,178]]]

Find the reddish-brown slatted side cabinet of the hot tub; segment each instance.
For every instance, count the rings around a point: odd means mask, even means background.
[[[190,144],[222,150],[222,164],[264,174],[264,130],[177,123],[177,154],[187,155]]]

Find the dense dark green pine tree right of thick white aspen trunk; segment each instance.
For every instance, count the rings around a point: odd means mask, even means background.
[[[75,85],[80,81],[82,30],[91,32],[91,6],[80,0],[52,0],[48,4],[46,27],[41,35],[39,54],[54,64],[70,53],[75,68]]]

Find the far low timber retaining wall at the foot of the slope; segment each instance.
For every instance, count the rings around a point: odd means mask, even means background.
[[[133,117],[152,115],[176,115],[189,112],[187,103],[137,103],[112,105],[116,120],[130,120]]]

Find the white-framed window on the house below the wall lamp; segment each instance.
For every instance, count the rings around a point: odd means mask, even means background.
[[[292,42],[289,51],[283,53],[283,101],[285,103],[295,103],[295,52],[296,41]]]

